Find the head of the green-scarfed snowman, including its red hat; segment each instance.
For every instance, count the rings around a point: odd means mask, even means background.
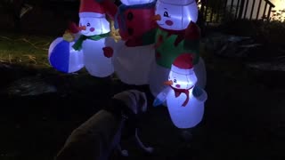
[[[79,28],[85,36],[101,35],[110,32],[105,10],[94,0],[81,0],[79,9]]]

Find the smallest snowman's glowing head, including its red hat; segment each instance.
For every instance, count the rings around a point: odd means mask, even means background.
[[[171,82],[172,87],[189,90],[197,83],[191,55],[184,53],[175,59],[168,76],[168,82]]]

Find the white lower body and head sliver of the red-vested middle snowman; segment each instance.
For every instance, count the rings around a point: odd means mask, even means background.
[[[149,4],[154,0],[121,0],[125,5]],[[125,84],[149,84],[151,64],[154,63],[153,44],[126,46],[126,41],[116,44],[114,68],[118,78]]]

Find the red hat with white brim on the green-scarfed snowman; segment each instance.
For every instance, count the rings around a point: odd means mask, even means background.
[[[80,18],[102,18],[105,10],[100,4],[101,0],[81,0],[79,8]]]

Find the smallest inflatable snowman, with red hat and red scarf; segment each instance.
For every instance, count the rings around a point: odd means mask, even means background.
[[[173,124],[177,128],[191,128],[199,124],[204,115],[207,92],[195,86],[197,76],[189,53],[179,55],[169,72],[168,86],[159,92],[153,106],[167,101],[167,108]]]

